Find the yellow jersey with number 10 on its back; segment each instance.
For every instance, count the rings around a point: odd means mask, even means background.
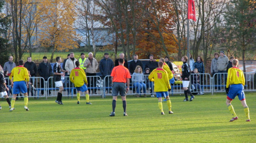
[[[168,91],[170,89],[170,83],[168,79],[167,71],[163,68],[154,69],[150,76],[148,76],[150,81],[155,83],[155,92]]]

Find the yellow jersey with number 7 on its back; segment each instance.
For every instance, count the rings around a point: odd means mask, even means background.
[[[16,66],[12,69],[10,80],[13,77],[13,82],[15,81],[29,81],[28,69],[22,65]]]

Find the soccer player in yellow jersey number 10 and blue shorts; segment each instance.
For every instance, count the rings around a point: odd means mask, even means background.
[[[148,76],[150,81],[154,81],[155,83],[155,92],[158,98],[158,107],[161,111],[161,114],[164,115],[163,105],[162,105],[162,97],[166,98],[167,106],[169,109],[169,114],[173,114],[172,112],[172,104],[169,99],[168,89],[170,89],[170,83],[168,78],[168,73],[163,69],[163,62],[158,62],[158,68],[154,69],[150,76]]]

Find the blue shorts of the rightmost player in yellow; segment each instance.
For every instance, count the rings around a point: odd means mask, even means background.
[[[239,100],[245,100],[243,84],[232,84],[232,85],[230,85],[229,91],[228,91],[228,94],[227,94],[227,99],[228,100],[233,100],[236,96],[238,96]]]

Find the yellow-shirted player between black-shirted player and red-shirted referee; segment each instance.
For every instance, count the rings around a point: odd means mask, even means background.
[[[76,61],[75,64],[76,68],[71,70],[69,78],[70,81],[75,84],[75,87],[78,91],[78,93],[76,93],[77,104],[80,104],[80,94],[84,91],[86,91],[86,104],[92,104],[89,102],[89,91],[87,88],[88,82],[86,79],[86,73],[84,73],[84,70],[79,67],[79,61]]]

